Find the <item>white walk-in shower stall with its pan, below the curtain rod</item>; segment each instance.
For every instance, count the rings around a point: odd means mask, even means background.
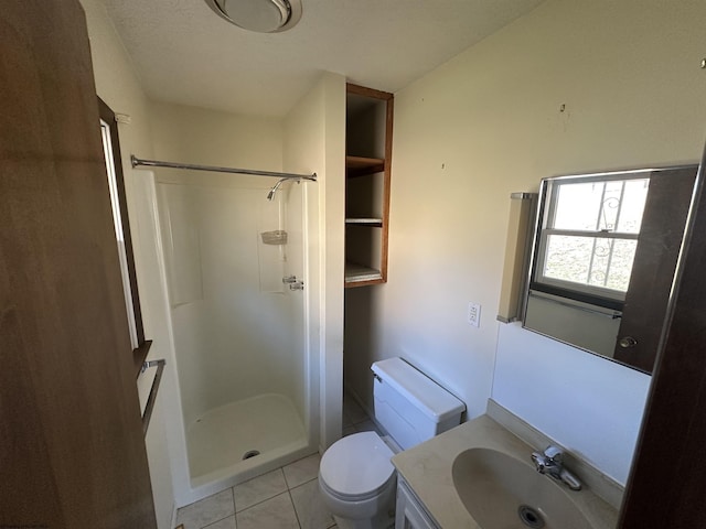
[[[156,174],[191,487],[234,484],[312,451],[315,175]]]

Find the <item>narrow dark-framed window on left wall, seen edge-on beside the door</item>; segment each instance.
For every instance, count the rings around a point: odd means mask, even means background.
[[[122,276],[125,305],[128,315],[130,342],[132,344],[132,359],[139,374],[152,342],[145,339],[145,330],[142,326],[142,313],[140,311],[140,298],[137,290],[137,276],[135,273],[130,223],[127,213],[122,163],[120,161],[120,144],[115,114],[100,98],[98,99],[98,108],[100,115],[100,136],[103,138],[103,150],[106,160],[106,171],[108,173],[110,204],[113,206],[113,220],[118,246],[120,272]]]

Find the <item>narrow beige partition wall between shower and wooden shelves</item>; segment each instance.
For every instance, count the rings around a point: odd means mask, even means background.
[[[310,425],[322,449],[341,435],[343,371],[343,196],[345,78],[327,73],[285,119],[285,170],[315,172],[307,187],[308,390],[319,401]],[[318,421],[321,421],[320,423]]]

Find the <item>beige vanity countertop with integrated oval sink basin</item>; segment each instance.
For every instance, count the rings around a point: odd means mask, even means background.
[[[507,419],[505,413],[499,412]],[[539,474],[532,452],[556,442],[520,430],[533,438],[532,445],[492,417],[477,417],[396,454],[398,483],[414,493],[436,527],[616,529],[620,486],[570,453],[565,454],[568,469],[580,471],[580,490]]]

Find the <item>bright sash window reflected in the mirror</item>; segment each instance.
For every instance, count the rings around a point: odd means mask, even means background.
[[[650,186],[650,179],[642,176],[550,182],[533,288],[622,305]]]

